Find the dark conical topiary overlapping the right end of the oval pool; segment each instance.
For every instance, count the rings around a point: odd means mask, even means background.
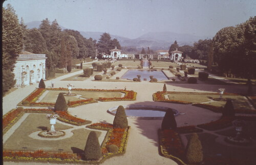
[[[161,125],[162,129],[176,129],[177,128],[177,123],[174,117],[174,112],[172,109],[167,109],[163,121],[162,121],[162,125]]]

